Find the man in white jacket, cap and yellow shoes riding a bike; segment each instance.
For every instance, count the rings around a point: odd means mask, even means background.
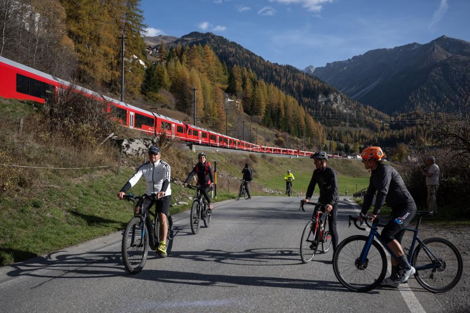
[[[170,166],[162,161],[160,157],[162,152],[159,147],[151,146],[148,149],[149,161],[142,164],[131,179],[118,192],[118,198],[122,199],[126,192],[131,189],[138,181],[143,178],[147,183],[145,195],[155,195],[157,201],[155,202],[156,213],[160,218],[160,243],[157,247],[157,252],[162,256],[166,256],[166,235],[167,235],[167,220],[166,217],[170,211],[171,201],[171,187],[170,187]],[[144,199],[143,207],[150,209],[149,199]]]

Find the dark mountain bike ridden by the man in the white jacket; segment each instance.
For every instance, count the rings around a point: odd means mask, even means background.
[[[124,267],[131,274],[136,274],[142,270],[147,260],[148,248],[155,250],[160,240],[160,218],[157,213],[150,211],[150,208],[158,201],[154,196],[132,196],[125,195],[123,199],[137,202],[138,213],[134,213],[129,223],[127,223],[122,234],[121,254]],[[143,200],[151,200],[148,208],[143,207]],[[153,217],[153,220],[152,220]],[[169,255],[173,246],[173,220],[167,216],[168,232],[166,234],[166,254]],[[178,232],[176,232],[178,233]],[[158,253],[157,253],[158,254]]]

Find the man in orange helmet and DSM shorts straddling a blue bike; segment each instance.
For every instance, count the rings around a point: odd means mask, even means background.
[[[392,271],[388,278],[382,282],[383,286],[398,287],[413,275],[416,270],[413,268],[401,247],[403,238],[403,228],[410,223],[416,214],[416,204],[406,188],[400,174],[392,166],[383,164],[384,153],[379,147],[367,147],[361,153],[362,163],[367,170],[371,170],[371,179],[367,193],[364,196],[362,211],[359,218],[375,219],[384,202],[392,208],[390,219],[383,227],[380,236],[387,243],[387,246],[398,257],[398,263],[391,258]],[[366,217],[366,213],[371,207],[376,195],[376,203],[372,214]],[[402,272],[400,275],[400,268]]]

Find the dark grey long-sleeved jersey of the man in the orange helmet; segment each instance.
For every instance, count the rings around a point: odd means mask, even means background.
[[[375,215],[380,212],[384,202],[392,208],[392,214],[394,208],[401,207],[401,204],[414,203],[400,174],[390,165],[379,164],[376,170],[372,171],[369,187],[362,204],[362,214],[367,213],[376,193]]]

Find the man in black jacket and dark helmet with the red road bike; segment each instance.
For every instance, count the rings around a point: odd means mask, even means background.
[[[338,211],[338,179],[336,172],[327,166],[328,155],[324,151],[314,153],[310,158],[315,159],[316,169],[313,171],[312,179],[308,184],[307,193],[305,195],[304,203],[310,201],[315,189],[315,184],[318,184],[320,189],[320,198],[318,202],[326,204],[325,212],[330,213],[331,217],[328,218],[329,231],[331,233],[331,242],[333,244],[333,251],[338,246],[338,232],[336,231],[336,213]]]

